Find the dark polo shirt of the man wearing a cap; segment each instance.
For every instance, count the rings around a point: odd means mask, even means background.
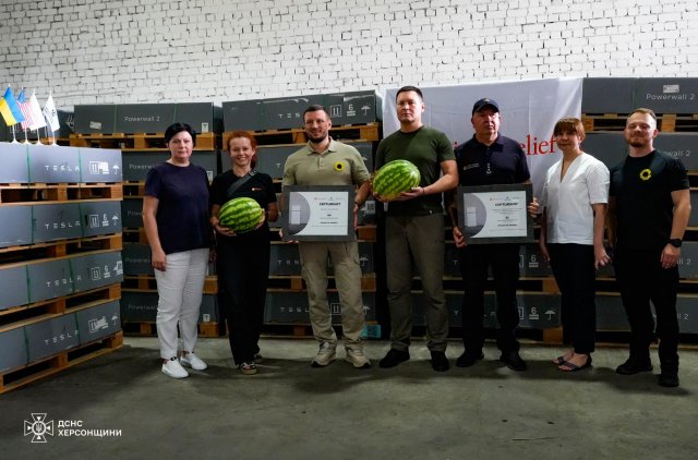
[[[526,154],[518,142],[498,135],[488,146],[473,135],[456,147],[459,184],[496,185],[526,182],[531,178]]]

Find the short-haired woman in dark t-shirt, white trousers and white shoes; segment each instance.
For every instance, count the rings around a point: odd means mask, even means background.
[[[208,177],[190,161],[196,133],[174,123],[165,131],[170,158],[154,166],[145,181],[143,225],[157,281],[157,336],[163,373],[172,378],[207,367],[196,354],[196,323],[210,247]],[[178,359],[178,329],[182,355]]]

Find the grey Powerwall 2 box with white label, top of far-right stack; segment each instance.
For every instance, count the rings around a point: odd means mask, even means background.
[[[638,78],[636,107],[657,113],[698,113],[698,78]]]

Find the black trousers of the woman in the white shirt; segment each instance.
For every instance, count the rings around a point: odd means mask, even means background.
[[[590,244],[549,244],[550,263],[562,293],[563,334],[575,353],[594,351],[597,271]]]

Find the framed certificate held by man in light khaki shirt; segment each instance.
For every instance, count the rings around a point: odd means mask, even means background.
[[[284,187],[285,241],[353,241],[353,185]]]

